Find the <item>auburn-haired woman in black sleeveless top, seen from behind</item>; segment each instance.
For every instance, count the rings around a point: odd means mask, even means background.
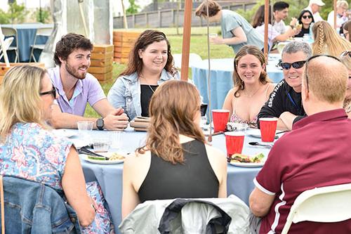
[[[200,103],[187,82],[168,81],[155,91],[145,146],[124,161],[123,218],[146,200],[227,197],[226,157],[206,144]]]

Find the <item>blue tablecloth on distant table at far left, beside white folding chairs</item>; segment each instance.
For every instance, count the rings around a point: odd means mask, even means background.
[[[18,33],[18,52],[20,53],[20,62],[29,62],[31,48],[30,46],[34,44],[34,38],[37,34],[37,29],[40,27],[48,27],[53,25],[46,24],[20,24],[20,25],[1,25],[2,27],[14,27]],[[38,37],[37,44],[45,44],[48,37]],[[13,40],[11,46],[15,46],[16,41]],[[34,56],[39,60],[41,51],[34,51]],[[12,62],[15,60],[15,53],[13,51],[8,52],[8,59]],[[33,60],[32,60],[33,61]]]

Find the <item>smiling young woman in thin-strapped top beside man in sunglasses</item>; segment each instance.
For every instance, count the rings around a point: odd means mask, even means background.
[[[256,46],[244,46],[234,58],[234,88],[223,109],[230,111],[230,122],[256,126],[257,115],[274,89],[265,72],[265,56]]]

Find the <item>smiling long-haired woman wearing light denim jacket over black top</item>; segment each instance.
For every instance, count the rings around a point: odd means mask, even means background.
[[[123,108],[129,120],[136,116],[148,117],[152,94],[168,79],[179,79],[179,74],[173,67],[166,35],[145,30],[135,41],[128,67],[110,89],[107,99],[114,108]]]

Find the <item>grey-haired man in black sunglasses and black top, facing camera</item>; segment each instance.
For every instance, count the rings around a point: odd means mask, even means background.
[[[279,63],[284,80],[275,86],[258,113],[258,126],[262,117],[277,117],[278,129],[291,130],[293,123],[305,116],[301,103],[301,84],[305,62],[310,56],[312,49],[305,42],[293,41],[284,47],[282,63]]]

